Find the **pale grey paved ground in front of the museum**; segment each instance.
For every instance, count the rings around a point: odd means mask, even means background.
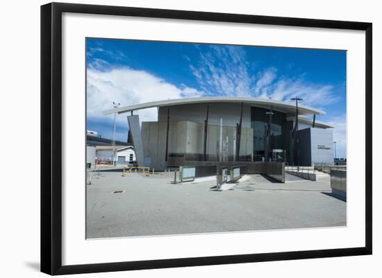
[[[149,236],[346,225],[346,202],[329,181],[272,183],[249,175],[229,191],[214,180],[104,172],[87,185],[87,237]],[[113,193],[123,191],[123,193]]]

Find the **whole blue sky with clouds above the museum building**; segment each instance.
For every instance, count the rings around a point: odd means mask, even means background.
[[[194,96],[251,96],[326,111],[335,126],[338,157],[346,157],[346,51],[226,46],[178,42],[87,39],[88,129],[111,137],[121,105]],[[138,112],[156,120],[156,110]],[[116,139],[126,141],[126,114],[117,116]]]

